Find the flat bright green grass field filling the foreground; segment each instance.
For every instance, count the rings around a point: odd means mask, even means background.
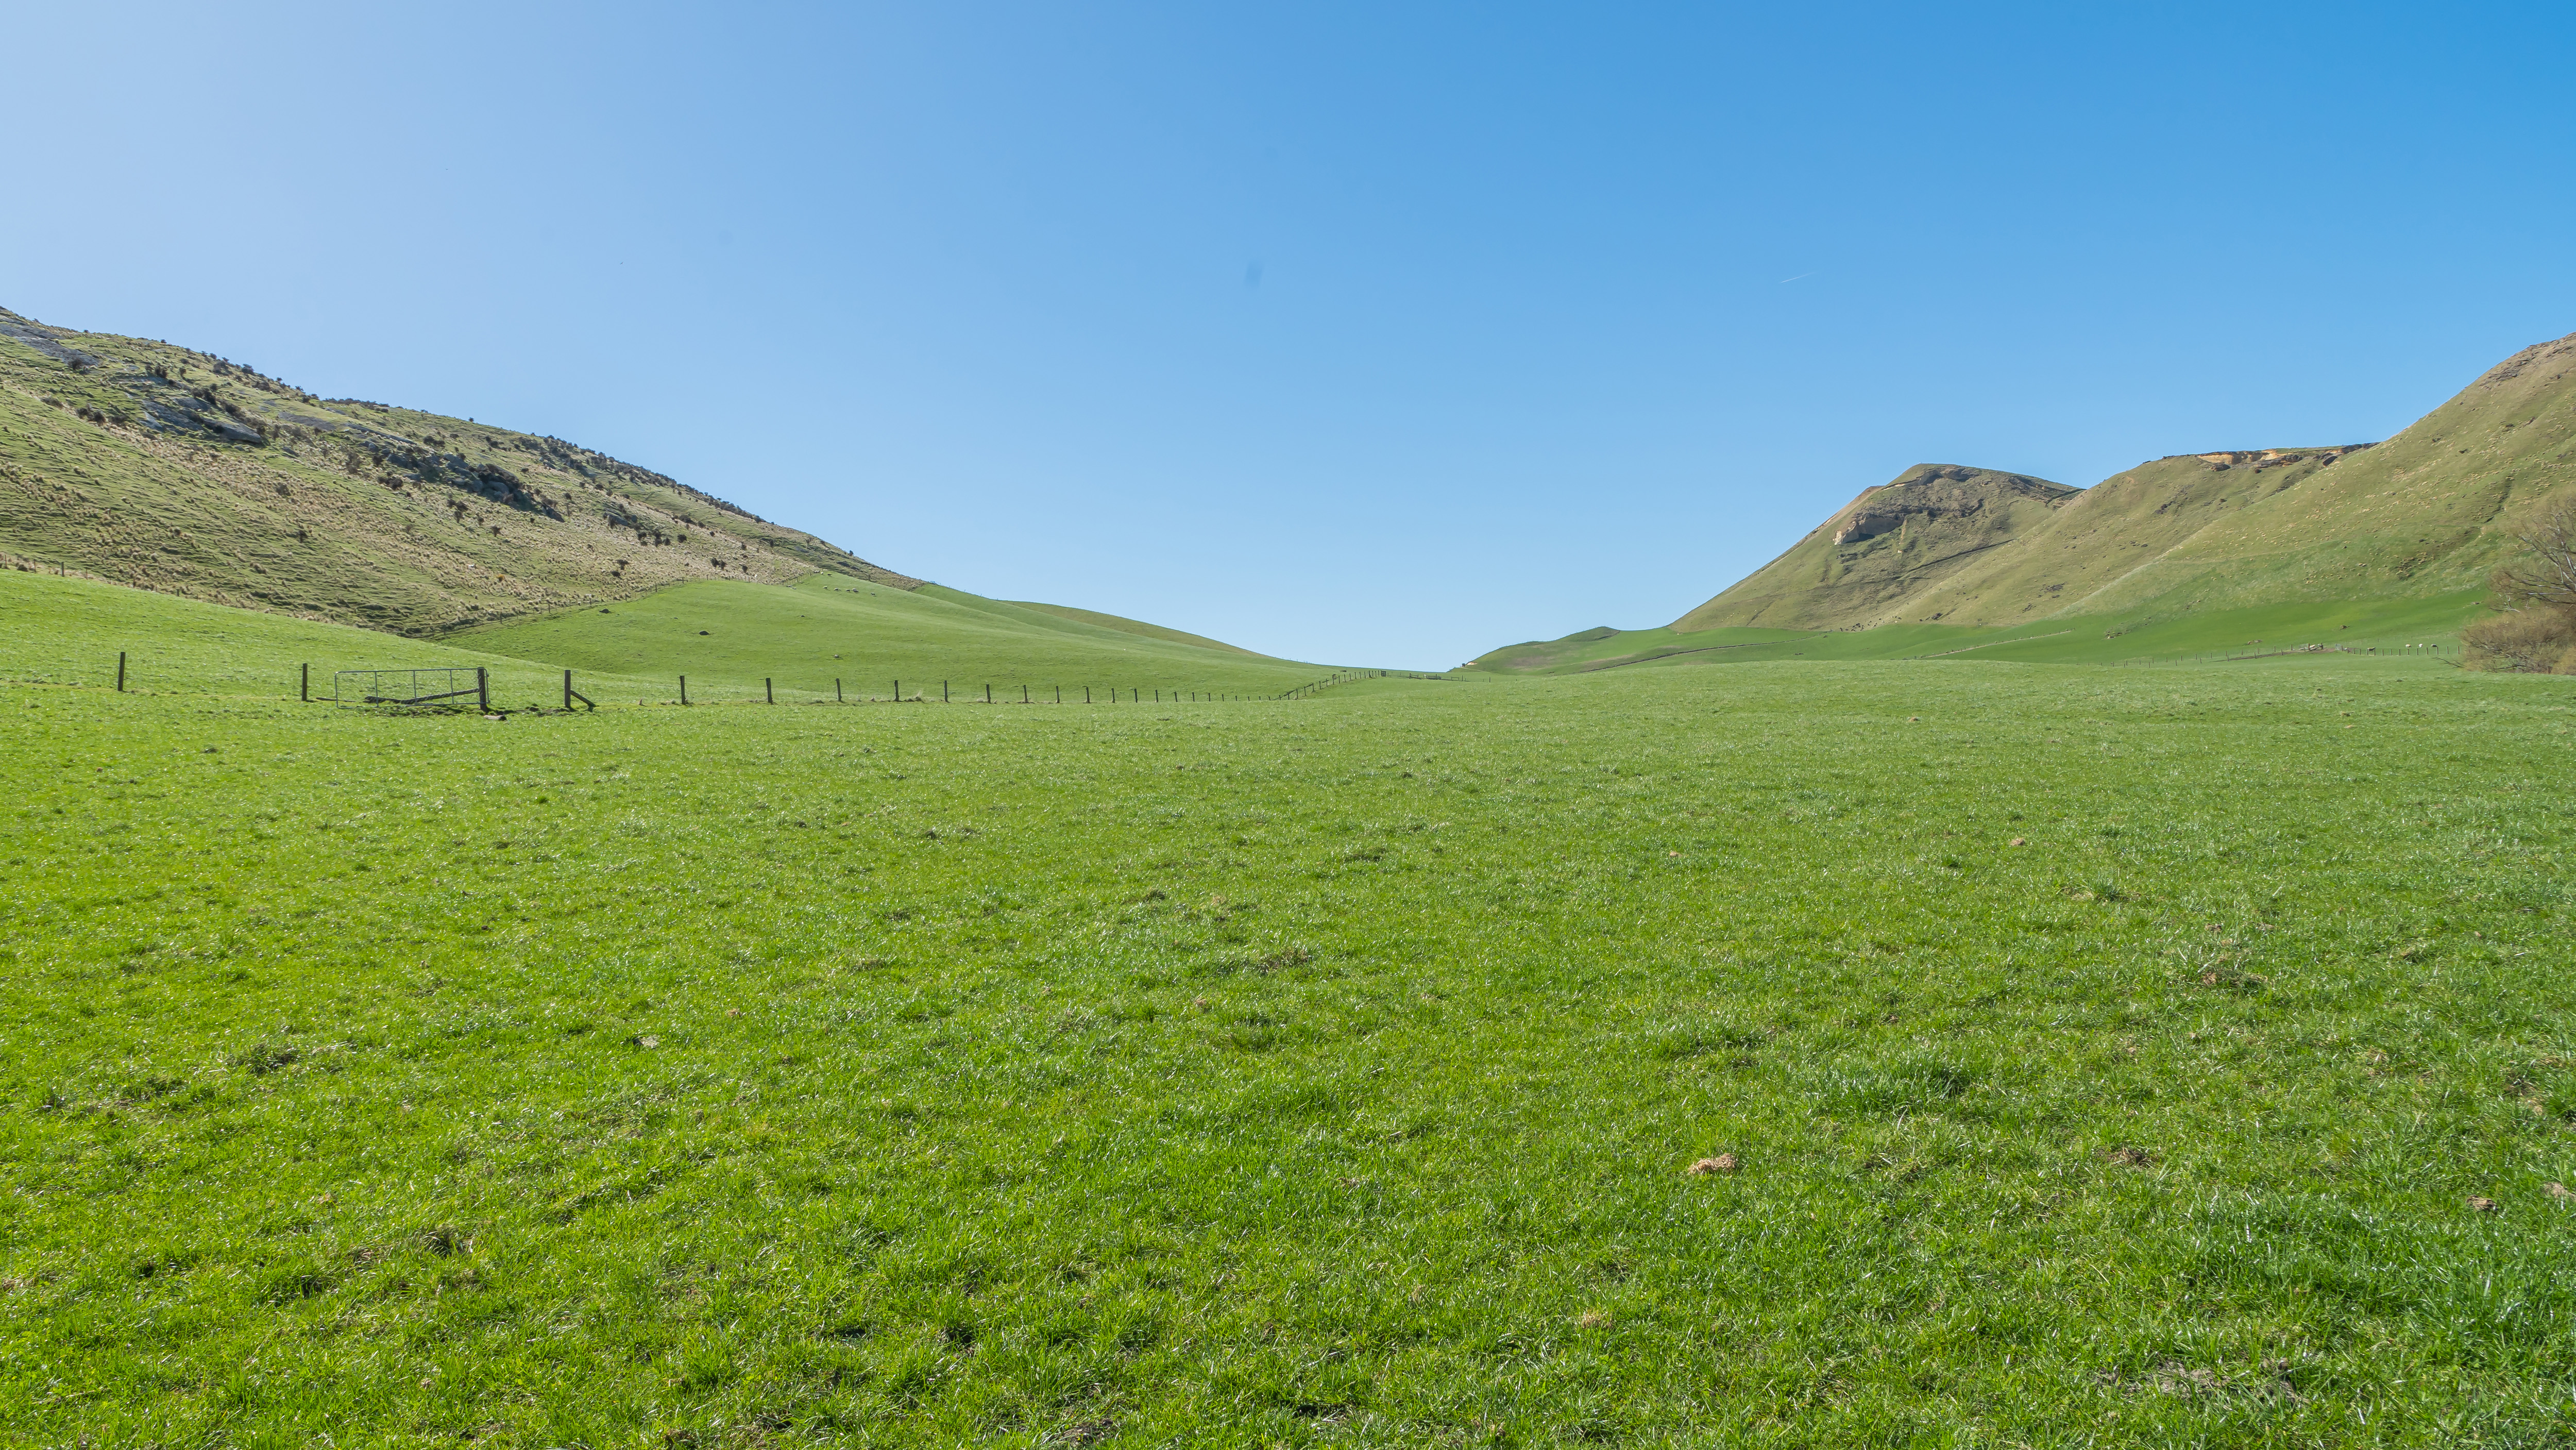
[[[70,585],[0,1445],[2576,1437],[2563,680],[487,721]]]

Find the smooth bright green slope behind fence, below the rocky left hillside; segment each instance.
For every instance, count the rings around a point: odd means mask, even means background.
[[[523,659],[549,659],[605,675],[670,680],[693,693],[781,690],[904,695],[940,680],[956,690],[1092,685],[1108,690],[1213,690],[1270,695],[1314,680],[1314,664],[1265,659],[1221,646],[1172,644],[927,585],[894,590],[829,572],[793,587],[703,579],[616,605],[474,628],[459,644]]]

